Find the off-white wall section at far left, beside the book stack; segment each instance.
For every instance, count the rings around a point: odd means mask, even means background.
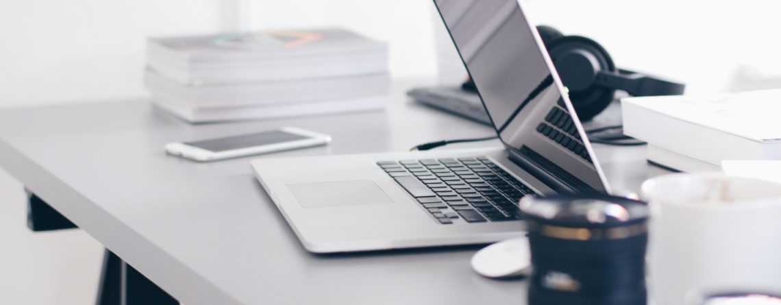
[[[5,1],[0,106],[141,96],[144,39],[230,27],[219,0]]]

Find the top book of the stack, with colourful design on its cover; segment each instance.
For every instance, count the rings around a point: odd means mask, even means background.
[[[387,44],[348,30],[277,30],[150,38],[147,62],[182,84],[387,72]]]

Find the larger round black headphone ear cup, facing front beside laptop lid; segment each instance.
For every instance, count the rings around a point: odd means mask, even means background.
[[[569,99],[580,120],[591,120],[610,105],[615,89],[594,85],[600,71],[615,72],[610,54],[597,41],[582,36],[566,36],[547,45],[551,60],[569,89]]]

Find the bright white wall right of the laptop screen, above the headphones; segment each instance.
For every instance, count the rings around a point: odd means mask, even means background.
[[[538,23],[594,38],[618,66],[685,81],[687,92],[781,88],[775,39],[781,2],[524,2]],[[742,77],[738,70],[760,78]]]

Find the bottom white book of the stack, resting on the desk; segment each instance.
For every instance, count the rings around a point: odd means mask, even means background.
[[[333,101],[227,109],[196,109],[164,95],[152,95],[152,99],[156,106],[173,113],[173,115],[187,122],[211,123],[380,110],[384,109],[388,97],[387,95],[377,95],[357,99],[337,99]]]

